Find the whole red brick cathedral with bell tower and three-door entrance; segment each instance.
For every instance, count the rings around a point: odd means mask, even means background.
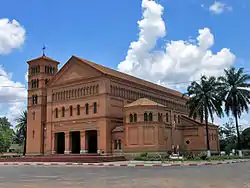
[[[28,61],[27,155],[205,151],[204,124],[177,91],[72,56]],[[218,127],[209,126],[212,151]]]

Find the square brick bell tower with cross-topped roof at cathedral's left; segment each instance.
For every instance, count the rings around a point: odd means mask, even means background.
[[[43,48],[44,50],[45,48]],[[26,155],[43,155],[46,150],[47,84],[58,71],[58,61],[45,56],[28,63],[28,111]]]

